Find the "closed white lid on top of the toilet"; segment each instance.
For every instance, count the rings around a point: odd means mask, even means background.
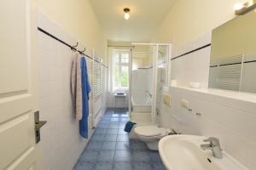
[[[141,126],[134,129],[135,133],[142,136],[161,136],[166,134],[166,128],[156,126]]]

